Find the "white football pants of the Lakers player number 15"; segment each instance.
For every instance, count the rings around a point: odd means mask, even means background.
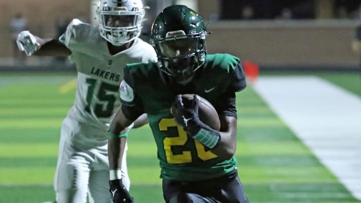
[[[86,128],[84,128],[86,126]],[[104,133],[99,128],[81,125],[65,119],[59,143],[58,162],[54,177],[57,203],[111,203],[109,192],[109,162],[107,144],[90,146],[69,137],[77,133]],[[105,132],[107,133],[107,132]],[[86,140],[84,140],[86,142]],[[129,190],[126,151],[122,159],[122,182]]]

